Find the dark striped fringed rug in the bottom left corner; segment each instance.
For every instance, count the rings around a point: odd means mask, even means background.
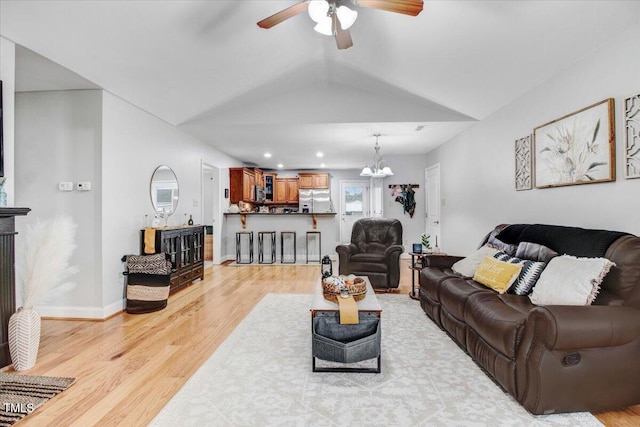
[[[0,373],[0,426],[17,422],[75,381],[75,378]]]

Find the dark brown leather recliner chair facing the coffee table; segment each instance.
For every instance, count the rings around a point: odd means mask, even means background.
[[[368,276],[374,288],[400,283],[402,223],[392,218],[363,218],[353,224],[351,243],[338,245],[340,274]]]

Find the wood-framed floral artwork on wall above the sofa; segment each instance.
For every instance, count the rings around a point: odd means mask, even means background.
[[[533,130],[536,188],[615,181],[613,98]]]

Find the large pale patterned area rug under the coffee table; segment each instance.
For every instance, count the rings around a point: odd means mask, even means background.
[[[531,415],[406,295],[378,295],[382,373],[313,373],[311,299],[266,295],[150,425],[601,425]]]

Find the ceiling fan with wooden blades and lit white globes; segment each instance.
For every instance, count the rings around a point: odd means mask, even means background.
[[[314,30],[335,36],[338,49],[348,49],[353,46],[349,28],[358,12],[349,9],[345,3],[411,16],[422,12],[423,6],[422,0],[304,0],[263,19],[258,22],[258,27],[271,28],[306,10],[317,24]]]

